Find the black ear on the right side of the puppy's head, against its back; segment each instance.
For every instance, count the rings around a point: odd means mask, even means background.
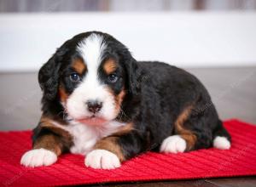
[[[132,95],[137,95],[139,93],[139,89],[141,87],[141,69],[137,65],[137,60],[133,59],[133,57],[128,55],[129,58],[125,59],[125,71],[127,73],[127,81],[129,92]]]

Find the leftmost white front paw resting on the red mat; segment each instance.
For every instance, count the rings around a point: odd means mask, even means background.
[[[20,160],[20,164],[26,167],[49,166],[57,161],[57,156],[53,151],[43,148],[27,151]]]

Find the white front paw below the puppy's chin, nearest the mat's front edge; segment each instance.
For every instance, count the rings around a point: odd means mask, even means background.
[[[92,150],[85,158],[85,166],[95,169],[114,169],[121,164],[118,156],[108,150]]]

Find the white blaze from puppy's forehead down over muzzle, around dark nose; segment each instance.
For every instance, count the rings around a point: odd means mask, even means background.
[[[95,33],[79,43],[77,50],[84,59],[87,72],[82,82],[67,99],[67,112],[75,119],[91,116],[85,105],[91,99],[102,102],[102,109],[97,116],[113,120],[117,115],[113,95],[109,93],[106,85],[98,77],[105,48],[107,48],[107,44],[103,41],[103,37]]]

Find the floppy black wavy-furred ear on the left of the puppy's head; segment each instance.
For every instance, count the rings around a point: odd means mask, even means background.
[[[43,98],[48,100],[55,99],[58,92],[59,84],[59,69],[61,63],[59,62],[57,52],[46,62],[38,73],[38,82],[40,88],[43,90]]]

